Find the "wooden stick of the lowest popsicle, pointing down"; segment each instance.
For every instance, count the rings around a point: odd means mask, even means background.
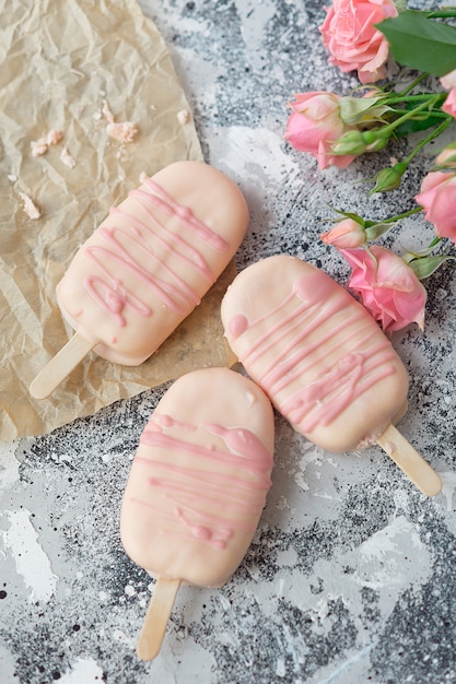
[[[138,638],[137,654],[141,660],[153,660],[159,654],[180,582],[180,579],[156,579]]]

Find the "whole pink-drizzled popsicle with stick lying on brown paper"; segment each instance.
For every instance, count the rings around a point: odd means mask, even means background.
[[[91,349],[127,366],[149,358],[222,273],[247,225],[241,190],[208,164],[176,162],[147,178],[57,285],[75,334],[32,382],[32,396],[48,396]]]

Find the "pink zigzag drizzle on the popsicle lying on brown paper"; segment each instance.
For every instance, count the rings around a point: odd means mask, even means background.
[[[132,273],[138,283],[145,285],[163,303],[163,306],[184,315],[200,303],[200,297],[179,275],[178,270],[169,268],[165,259],[160,258],[154,245],[160,244],[173,253],[178,262],[186,264],[199,273],[212,285],[215,276],[207,264],[203,256],[195,246],[202,240],[215,251],[226,251],[229,243],[199,221],[191,209],[173,200],[164,189],[151,178],[145,180],[148,190],[141,188],[130,192],[129,198],[144,215],[144,221],[128,214],[121,208],[110,210],[112,216],[129,221],[127,228],[110,226],[100,229],[104,245],[87,246],[84,253],[95,261],[103,278],[89,275],[84,279],[84,287],[96,302],[116,321],[119,328],[126,326],[125,309],[131,309],[139,316],[151,316],[151,307],[132,292],[128,292],[118,274],[122,270]],[[155,212],[154,212],[155,210]],[[159,221],[156,210],[176,219],[180,224],[182,234],[175,233]],[[140,255],[145,257],[140,259]],[[145,268],[150,263],[151,268]],[[153,273],[160,267],[168,281]],[[140,287],[138,291],[140,292]]]

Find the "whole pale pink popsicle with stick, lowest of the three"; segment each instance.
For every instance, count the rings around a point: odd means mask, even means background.
[[[180,583],[220,587],[241,564],[270,487],[272,405],[227,368],[182,376],[140,437],[120,515],[130,558],[156,578],[137,652],[154,658]]]

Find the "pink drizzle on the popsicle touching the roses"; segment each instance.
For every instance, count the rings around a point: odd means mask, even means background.
[[[361,306],[353,304],[344,291],[335,290],[329,276],[316,272],[296,280],[289,295],[255,321],[237,315],[229,323],[230,333],[236,339],[247,331],[255,332],[255,328],[271,319],[267,332],[258,333],[241,361],[303,433],[330,424],[367,389],[395,373],[388,363],[395,357],[389,341]],[[277,315],[279,320],[272,322]],[[329,331],[324,330],[323,326],[331,319]],[[334,354],[351,339],[362,352],[339,354],[337,363],[312,375],[313,366],[319,365],[324,355]],[[268,364],[265,355],[271,351],[273,358]],[[299,384],[290,398],[279,397],[304,375],[312,379]]]

